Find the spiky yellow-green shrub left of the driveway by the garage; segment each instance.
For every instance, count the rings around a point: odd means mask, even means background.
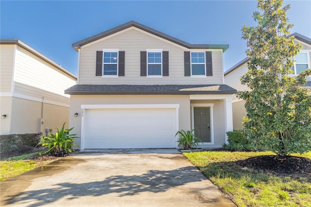
[[[79,137],[75,137],[76,135],[69,135],[73,127],[65,129],[65,123],[61,130],[56,128],[57,132],[55,134],[51,133],[47,137],[41,138],[39,144],[42,144],[43,148],[48,148],[48,150],[42,154],[51,153],[55,156],[63,156],[72,153],[73,146],[78,146],[73,142],[75,138]]]

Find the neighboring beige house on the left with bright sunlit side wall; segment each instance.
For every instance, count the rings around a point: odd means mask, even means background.
[[[0,39],[0,134],[42,133],[69,126],[70,96],[77,77],[20,41]]]

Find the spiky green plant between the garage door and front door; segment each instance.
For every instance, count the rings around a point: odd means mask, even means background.
[[[198,147],[198,142],[201,142],[201,139],[198,137],[194,136],[194,131],[195,129],[192,129],[191,131],[185,131],[185,130],[180,130],[175,134],[175,137],[179,134],[180,138],[176,141],[178,143],[178,147],[181,146],[183,149],[188,150],[192,149],[193,147],[197,148]]]

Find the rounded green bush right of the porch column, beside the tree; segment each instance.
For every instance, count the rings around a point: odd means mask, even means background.
[[[256,150],[252,147],[243,130],[233,130],[233,132],[227,132],[227,136],[229,143],[224,144],[224,147],[227,149],[235,151]]]

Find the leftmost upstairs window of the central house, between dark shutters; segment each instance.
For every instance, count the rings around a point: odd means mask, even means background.
[[[118,52],[105,52],[103,58],[103,75],[118,75]]]

